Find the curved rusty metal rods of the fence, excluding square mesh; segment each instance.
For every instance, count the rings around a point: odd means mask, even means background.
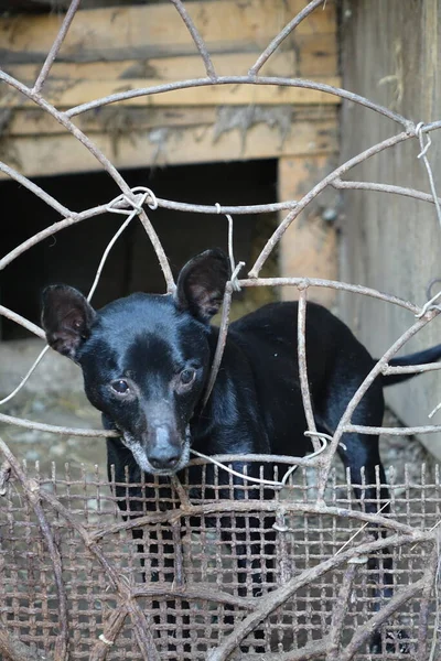
[[[303,571],[299,576],[291,578],[287,584],[278,586],[273,592],[263,595],[259,598],[245,598],[236,597],[228,592],[219,590],[218,588],[211,588],[205,585],[185,585],[183,581],[176,581],[175,584],[146,584],[144,587],[129,586],[122,577],[119,575],[118,567],[115,563],[110,562],[103,553],[99,542],[103,538],[117,534],[122,530],[130,530],[138,528],[143,524],[153,524],[160,522],[168,522],[178,530],[178,522],[183,517],[189,516],[201,516],[201,514],[222,514],[225,513],[226,509],[233,509],[235,512],[248,513],[249,512],[275,512],[280,514],[281,506],[278,500],[244,500],[234,502],[206,502],[203,505],[192,505],[189,498],[183,491],[181,498],[181,505],[179,508],[168,510],[164,512],[150,513],[148,516],[138,518],[136,521],[118,522],[114,525],[109,525],[106,529],[96,529],[90,533],[84,525],[78,523],[75,517],[72,516],[69,510],[61,502],[61,500],[42,489],[35,480],[32,480],[22,470],[19,460],[9,449],[8,445],[0,440],[0,451],[3,454],[8,463],[8,470],[3,470],[0,475],[0,495],[3,495],[4,484],[9,480],[9,475],[12,473],[14,480],[20,484],[22,492],[29,505],[32,507],[35,517],[39,521],[40,529],[44,537],[47,551],[51,557],[52,566],[54,570],[57,602],[60,609],[60,630],[56,639],[56,646],[53,651],[52,661],[65,661],[68,658],[68,608],[66,600],[66,590],[63,583],[63,567],[62,556],[60,550],[55,543],[54,530],[47,523],[43,505],[49,507],[52,511],[55,511],[61,518],[63,518],[79,535],[84,545],[88,552],[99,562],[106,579],[112,586],[115,594],[118,597],[118,606],[110,614],[107,619],[104,632],[99,637],[92,652],[92,661],[104,660],[107,657],[109,649],[115,643],[119,632],[121,631],[123,624],[128,617],[130,617],[135,637],[138,641],[139,649],[142,657],[147,660],[159,660],[159,652],[154,642],[154,625],[142,610],[139,605],[141,597],[161,597],[161,598],[183,598],[187,600],[195,599],[207,599],[213,600],[217,604],[226,604],[234,607],[240,607],[247,611],[244,619],[236,625],[230,635],[226,636],[218,647],[212,649],[208,653],[207,659],[209,661],[226,661],[229,654],[244,641],[246,636],[250,633],[265,621],[270,614],[276,610],[279,606],[283,605],[290,599],[297,592],[311,581],[322,576],[330,570],[338,566],[346,566],[344,574],[343,584],[340,590],[340,598],[337,607],[333,613],[332,629],[329,637],[324,638],[320,642],[311,642],[302,650],[293,650],[292,652],[283,652],[281,654],[266,655],[266,659],[282,659],[284,661],[300,661],[301,659],[315,659],[325,655],[327,661],[349,661],[354,659],[357,651],[366,642],[372,630],[378,628],[383,622],[391,617],[391,615],[400,608],[400,606],[415,596],[417,593],[422,595],[422,607],[420,613],[420,629],[419,629],[419,652],[418,659],[426,659],[424,654],[428,649],[427,641],[427,621],[428,621],[428,609],[431,599],[433,586],[437,582],[438,567],[438,544],[439,544],[439,531],[438,529],[431,530],[416,530],[410,525],[406,525],[398,520],[389,516],[383,516],[380,512],[377,514],[368,514],[363,511],[344,510],[342,508],[331,507],[324,502],[324,490],[330,475],[331,463],[335,451],[342,440],[342,435],[346,432],[362,431],[365,434],[378,434],[379,432],[386,434],[410,434],[410,433],[431,433],[441,430],[440,425],[427,425],[424,427],[399,427],[399,429],[378,429],[367,427],[352,424],[352,414],[355,411],[356,405],[369,388],[370,383],[381,373],[396,373],[399,371],[426,371],[429,369],[438,369],[439,366],[413,366],[408,368],[391,368],[388,365],[390,358],[396,351],[406,344],[411,337],[413,337],[422,327],[430,323],[440,312],[435,305],[419,305],[408,301],[404,301],[397,296],[379,292],[374,289],[364,288],[361,285],[354,285],[349,283],[319,280],[319,279],[306,279],[306,278],[275,278],[275,279],[262,279],[259,278],[260,270],[268,259],[271,251],[280,241],[281,236],[292,224],[292,221],[302,213],[304,209],[320,195],[326,187],[333,186],[337,189],[352,188],[352,189],[365,189],[365,191],[377,191],[387,194],[405,195],[422,202],[429,202],[435,205],[437,210],[440,208],[440,198],[435,194],[434,185],[431,185],[432,194],[426,194],[420,191],[405,188],[400,186],[392,186],[384,183],[373,182],[355,182],[342,180],[349,170],[355,165],[370,159],[375,154],[380,153],[386,149],[394,149],[397,144],[405,142],[410,139],[417,138],[420,140],[421,154],[426,167],[428,167],[427,150],[429,144],[423,144],[423,137],[428,137],[431,131],[441,128],[441,121],[435,121],[428,124],[415,124],[413,121],[402,117],[401,115],[391,111],[372,100],[364,98],[357,94],[347,91],[345,89],[336,88],[314,80],[305,80],[303,78],[287,78],[277,76],[260,76],[259,72],[262,65],[268,58],[276,52],[281,42],[291,34],[297,26],[305,20],[312,12],[320,11],[323,6],[323,0],[312,0],[297,17],[294,17],[283,30],[271,41],[271,43],[263,50],[254,66],[246,76],[218,76],[214,68],[207,47],[195,25],[186,11],[181,0],[171,0],[176,11],[180,13],[191,39],[193,40],[195,47],[201,55],[204,63],[206,77],[195,78],[190,80],[180,80],[175,83],[166,83],[162,85],[155,85],[148,88],[140,88],[129,91],[122,91],[112,94],[107,97],[96,99],[94,101],[82,104],[76,107],[69,108],[66,111],[61,111],[55,108],[52,104],[47,102],[42,96],[42,89],[46,80],[51,75],[51,68],[58,55],[60,48],[62,47],[63,41],[67,34],[71,23],[75,17],[75,12],[79,6],[79,0],[73,0],[71,7],[65,15],[62,28],[47,54],[47,57],[41,68],[40,74],[36,77],[33,87],[29,87],[15,79],[14,77],[0,71],[0,80],[8,85],[13,90],[20,93],[24,99],[29,99],[35,104],[35,106],[44,109],[50,116],[56,119],[72,136],[74,136],[85,149],[87,149],[95,159],[100,163],[103,169],[112,177],[121,191],[121,196],[112,204],[116,209],[133,209],[133,216],[139,215],[139,219],[144,227],[146,234],[151,241],[162,272],[164,274],[166,291],[170,293],[173,291],[174,282],[171,273],[170,266],[168,263],[166,254],[162,248],[162,245],[158,238],[155,229],[142,208],[142,203],[148,204],[146,196],[141,201],[139,192],[131,189],[121,174],[116,170],[107,156],[97,148],[97,145],[73,122],[73,118],[79,116],[83,112],[103,108],[104,106],[127,101],[136,97],[148,97],[151,95],[166,94],[173,90],[182,90],[189,88],[197,88],[204,86],[219,86],[219,85],[267,85],[277,87],[298,87],[313,89],[324,94],[331,94],[342,99],[358,104],[368,108],[383,117],[386,117],[400,126],[401,132],[390,136],[388,139],[372,145],[364,152],[357,154],[353,159],[338,165],[333,172],[323,177],[318,184],[309,191],[300,201],[286,201],[271,205],[244,205],[244,206],[225,206],[219,205],[198,205],[179,203],[169,199],[158,198],[158,206],[169,209],[175,209],[183,213],[193,212],[201,214],[249,214],[249,213],[268,213],[275,210],[288,210],[288,214],[279,227],[275,230],[273,235],[268,239],[267,245],[258,256],[255,264],[249,271],[248,279],[237,280],[237,284],[243,288],[247,286],[268,286],[268,285],[281,285],[281,286],[295,286],[300,291],[300,307],[299,307],[299,333],[298,333],[298,356],[299,356],[299,369],[301,377],[301,389],[304,411],[308,420],[309,432],[313,438],[316,433],[314,416],[311,407],[311,394],[309,391],[308,382],[308,366],[305,359],[305,315],[308,314],[306,294],[311,286],[319,288],[331,288],[335,290],[349,291],[361,295],[375,297],[378,300],[386,301],[390,304],[398,305],[412,315],[419,317],[417,321],[412,319],[412,325],[404,333],[404,335],[396,340],[396,343],[384,354],[378,360],[376,366],[373,368],[370,373],[366,377],[353,399],[348,403],[345,413],[343,414],[340,424],[331,440],[327,449],[311,458],[308,457],[271,457],[272,462],[279,463],[294,463],[299,466],[314,466],[319,470],[319,490],[318,499],[315,503],[283,503],[283,512],[301,512],[310,514],[327,514],[330,517],[343,518],[343,519],[356,519],[358,521],[381,525],[383,528],[390,531],[391,535],[387,539],[379,539],[376,541],[361,542],[357,545],[351,546],[341,553],[335,554],[332,557],[326,559],[316,566]],[[92,217],[103,215],[109,212],[109,204],[100,205],[94,208],[89,208],[82,212],[73,212],[67,209],[60,204],[54,197],[49,195],[41,187],[36,186],[32,181],[24,177],[17,170],[9,166],[6,163],[0,163],[0,171],[8,174],[10,177],[25,186],[29,191],[35,194],[37,197],[43,199],[51,208],[55,209],[61,220],[54,223],[52,226],[44,230],[36,232],[28,240],[17,246],[8,254],[0,260],[0,270],[7,268],[18,257],[23,254],[31,247],[37,245],[40,241],[49,236],[53,236],[56,232],[69,227],[73,224],[86,221]],[[428,167],[428,174],[430,176],[430,165]],[[431,184],[432,184],[431,180]],[[141,202],[140,202],[141,201]],[[114,209],[110,209],[114,210]],[[131,212],[127,212],[126,215],[130,216]],[[119,230],[120,231],[120,230]],[[99,275],[99,274],[98,274]],[[226,295],[224,300],[224,314],[219,332],[219,343],[216,351],[216,361],[213,367],[212,373],[212,386],[216,376],[216,371],[222,361],[223,348],[226,343],[228,333],[228,317],[229,317],[229,303],[233,294],[234,283],[229,282],[226,289]],[[0,314],[12,319],[13,322],[28,328],[31,333],[37,337],[44,338],[44,333],[35,324],[23,318],[15,312],[0,306]],[[0,422],[23,426],[26,429],[39,430],[42,432],[51,432],[55,434],[68,434],[68,435],[83,435],[89,437],[104,437],[114,435],[111,432],[105,432],[103,430],[78,430],[67,429],[51,424],[36,423],[33,421],[14,418],[0,413]],[[315,449],[320,444],[314,438],[316,444]],[[234,460],[235,457],[219,457],[220,460]],[[252,457],[255,460],[268,460],[267,456]],[[203,463],[201,459],[194,459],[195,464]],[[8,477],[7,477],[8,476]],[[4,484],[3,484],[4,483]],[[179,488],[176,487],[179,491]],[[429,566],[427,567],[423,576],[412,585],[402,588],[385,605],[378,613],[375,613],[368,621],[363,626],[358,627],[355,631],[351,642],[345,649],[341,648],[341,631],[343,628],[344,616],[349,599],[349,593],[354,577],[356,575],[356,564],[351,564],[351,561],[384,549],[385,546],[402,548],[409,543],[428,543],[432,545],[432,555]],[[3,654],[8,655],[13,661],[25,660],[25,661],[41,661],[43,657],[37,652],[32,651],[28,646],[18,640],[14,636],[8,632],[4,621],[0,621],[0,650]],[[254,654],[246,654],[243,658],[246,661],[254,661]],[[49,659],[49,657],[44,657]]]

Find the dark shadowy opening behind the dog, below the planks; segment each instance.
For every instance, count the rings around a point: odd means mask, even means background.
[[[155,170],[129,170],[123,176],[130,186],[144,185],[158,197],[197,204],[268,204],[277,199],[277,161],[249,161],[182,165]],[[44,191],[74,212],[110,202],[119,194],[107,173],[82,173],[35,180]],[[17,182],[0,184],[3,201],[1,253],[52,225],[61,217]],[[174,273],[193,254],[211,247],[227,248],[225,216],[186,214],[157,209],[149,212]],[[90,218],[34,246],[1,273],[0,301],[7,307],[39,324],[41,291],[63,282],[87,293],[103,252],[123,216],[105,214]],[[275,216],[234,217],[237,260],[251,266],[256,245],[269,236]],[[268,230],[268,228],[270,228]],[[265,236],[263,236],[265,235]],[[260,237],[260,238],[259,238]],[[164,279],[153,248],[133,219],[112,248],[106,262],[94,306],[133,291],[164,292]],[[28,337],[28,332],[1,319],[1,339]]]

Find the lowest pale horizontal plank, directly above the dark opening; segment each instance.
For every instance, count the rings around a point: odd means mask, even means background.
[[[334,121],[297,122],[283,140],[281,131],[259,123],[246,133],[227,131],[215,139],[213,127],[130,132],[126,139],[108,133],[94,137],[118,169],[183,163],[208,163],[279,158],[283,154],[334,153]],[[7,140],[20,171],[26,176],[100,170],[99,163],[72,136],[23,137]]]

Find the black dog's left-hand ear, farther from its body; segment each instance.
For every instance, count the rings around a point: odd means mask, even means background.
[[[43,291],[42,325],[49,345],[63,356],[75,360],[95,316],[95,310],[73,286],[54,284]]]

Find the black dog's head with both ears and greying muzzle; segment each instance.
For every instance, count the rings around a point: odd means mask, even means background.
[[[86,394],[121,432],[147,473],[171,475],[190,457],[190,420],[209,372],[209,319],[228,260],[207,250],[182,269],[174,295],[132,294],[95,311],[66,285],[43,292],[50,346],[77,362]]]

